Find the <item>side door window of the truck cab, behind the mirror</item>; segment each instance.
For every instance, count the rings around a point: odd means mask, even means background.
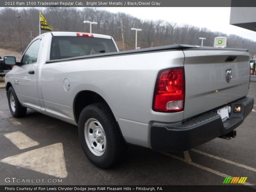
[[[30,44],[30,46],[28,47],[27,51],[23,56],[22,64],[36,63],[39,48],[40,48],[40,43],[41,43],[40,39],[37,39],[32,44]]]

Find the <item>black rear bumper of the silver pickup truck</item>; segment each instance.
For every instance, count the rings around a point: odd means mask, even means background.
[[[231,132],[249,115],[254,99],[246,96],[227,105],[231,106],[229,119],[221,121],[217,109],[186,120],[177,126],[151,126],[151,148],[155,151],[185,151]],[[241,113],[234,113],[235,105],[242,105]]]

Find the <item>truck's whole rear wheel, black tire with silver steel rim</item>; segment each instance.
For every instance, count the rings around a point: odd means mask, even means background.
[[[84,153],[93,164],[106,169],[120,160],[124,141],[107,105],[85,107],[79,116],[78,132]]]

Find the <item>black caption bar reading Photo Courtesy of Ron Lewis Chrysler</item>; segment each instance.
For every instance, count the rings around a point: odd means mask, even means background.
[[[255,186],[244,186],[244,185],[222,185],[222,186],[206,186],[206,185],[200,185],[200,186],[189,186],[189,185],[126,185],[126,186],[75,186],[75,185],[69,185],[69,186],[59,186],[59,185],[13,185],[13,186],[0,186],[1,192],[39,192],[39,191],[51,191],[51,192],[58,192],[58,191],[65,191],[65,192],[148,192],[148,191],[156,191],[156,192],[240,192],[240,191],[246,191],[251,192],[255,191]]]

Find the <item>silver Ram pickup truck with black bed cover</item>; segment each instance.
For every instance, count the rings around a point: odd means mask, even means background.
[[[251,112],[247,50],[170,45],[118,52],[111,36],[36,37],[5,76],[14,117],[27,108],[78,125],[86,156],[117,163],[126,143],[184,151],[234,130]]]

